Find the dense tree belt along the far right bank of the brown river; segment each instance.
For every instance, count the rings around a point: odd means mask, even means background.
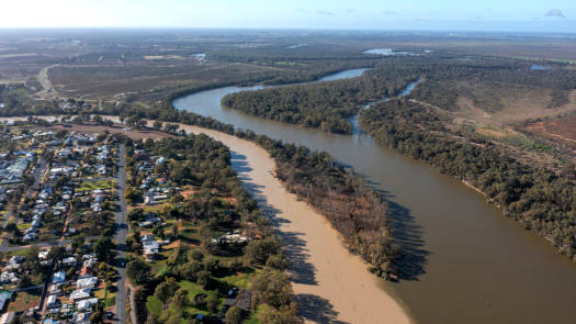
[[[520,164],[488,141],[450,134],[441,116],[405,100],[374,104],[361,112],[360,122],[379,143],[474,186],[507,216],[575,256],[574,166],[555,175]]]

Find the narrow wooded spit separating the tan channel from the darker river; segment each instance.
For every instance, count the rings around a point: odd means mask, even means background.
[[[396,271],[394,265],[402,257],[402,250],[389,231],[385,200],[353,170],[339,166],[327,153],[284,144],[251,131],[235,130],[233,125],[179,111],[171,105],[126,107],[105,113],[121,114],[124,121],[134,124],[139,124],[137,120],[149,119],[197,125],[257,143],[274,158],[276,176],[289,190],[323,213],[343,235],[348,247],[371,264],[373,272],[386,277]]]

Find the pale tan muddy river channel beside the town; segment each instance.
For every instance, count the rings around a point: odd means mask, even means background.
[[[240,179],[264,204],[280,231],[291,261],[294,293],[306,322],[413,322],[399,302],[379,288],[379,279],[368,271],[368,265],[342,245],[337,231],[274,178],[274,160],[263,148],[217,131],[190,125],[181,129],[204,133],[233,152]]]

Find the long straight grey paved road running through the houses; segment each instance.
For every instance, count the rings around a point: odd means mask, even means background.
[[[116,212],[116,234],[114,236],[114,241],[117,244],[117,260],[120,262],[117,266],[120,276],[117,281],[118,291],[116,292],[116,320],[120,323],[126,323],[126,235],[128,234],[128,225],[127,205],[124,198],[126,189],[125,154],[124,144],[121,144],[118,149],[118,171],[116,174],[120,211]]]

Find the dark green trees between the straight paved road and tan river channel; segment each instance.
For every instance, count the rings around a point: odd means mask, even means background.
[[[182,247],[174,259],[167,262],[167,270],[161,275],[153,276],[150,267],[142,259],[134,258],[127,264],[129,278],[142,287],[136,292],[136,311],[138,323],[181,323],[192,322],[192,314],[187,313],[187,306],[192,303],[188,291],[180,288],[178,282],[189,280],[200,284],[204,290],[211,291],[206,298],[206,306],[211,313],[216,313],[221,298],[229,288],[223,287],[223,277],[236,273],[245,268],[244,259],[248,265],[263,268],[262,273],[271,276],[257,276],[253,279],[253,291],[261,295],[257,306],[264,308],[272,313],[281,324],[300,324],[302,319],[297,315],[296,304],[292,302],[292,286],[287,276],[283,273],[287,261],[282,254],[281,245],[270,221],[261,215],[261,210],[246,189],[241,186],[236,172],[230,165],[230,153],[222,143],[206,135],[190,135],[187,137],[169,137],[160,141],[126,141],[128,155],[127,168],[132,175],[129,186],[138,188],[142,177],[137,172],[138,160],[132,158],[135,149],[145,149],[154,156],[167,158],[165,164],[155,166],[155,174],[178,186],[193,186],[200,188],[199,192],[184,199],[179,193],[173,193],[172,204],[161,211],[163,219],[194,221],[199,223],[202,234],[203,250],[194,249],[190,254]],[[225,203],[230,199],[234,203]],[[144,220],[145,213],[133,210],[128,214],[131,222]],[[127,239],[128,249],[138,252],[139,228],[134,226],[134,234]],[[247,246],[230,244],[225,247],[215,246],[212,239],[216,233],[241,231],[250,237]],[[153,232],[163,237],[163,228],[154,228]],[[178,236],[178,226],[174,225],[170,235]],[[242,249],[244,248],[244,249]],[[216,256],[224,255],[236,257],[236,261],[221,262]],[[223,293],[224,291],[224,293]],[[162,304],[162,316],[147,314],[147,297],[154,294]],[[267,316],[262,312],[261,316]],[[230,322],[241,321],[236,309],[226,314]],[[236,323],[236,322],[235,322]],[[238,322],[240,323],[240,322]],[[268,323],[268,322],[264,322]]]

